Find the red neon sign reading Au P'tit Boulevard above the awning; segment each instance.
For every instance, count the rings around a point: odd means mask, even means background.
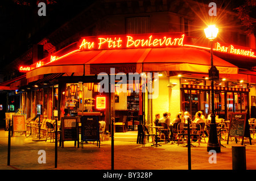
[[[121,49],[121,48],[153,48],[153,47],[183,47],[184,34],[154,35],[120,35],[94,36],[81,40],[80,50]]]

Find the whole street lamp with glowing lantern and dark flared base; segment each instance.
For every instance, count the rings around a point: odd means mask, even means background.
[[[213,66],[213,39],[217,37],[218,28],[214,25],[208,26],[204,29],[205,36],[210,40],[210,70],[209,79],[211,81],[211,97],[212,97],[212,113],[210,115],[210,133],[207,145],[207,151],[215,150],[217,153],[221,151],[220,144],[218,143],[217,137],[217,126],[215,121],[215,110],[214,110],[214,80],[219,79],[219,74],[216,66]]]

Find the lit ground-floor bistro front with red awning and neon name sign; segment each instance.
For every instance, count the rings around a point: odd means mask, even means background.
[[[213,57],[220,71],[220,80],[214,82],[217,115],[225,120],[232,112],[251,116],[254,72],[239,70],[220,57]],[[194,116],[202,111],[207,117],[211,111],[209,49],[186,44],[182,33],[82,37],[40,62],[42,66],[27,68],[32,90],[20,91],[20,108],[28,117],[35,116],[36,105],[42,104],[46,118],[53,119],[53,110],[59,120],[98,115],[110,131],[112,117],[118,122],[127,115],[126,129],[133,129],[137,124],[152,125],[156,113],[170,112],[174,119],[178,112]]]

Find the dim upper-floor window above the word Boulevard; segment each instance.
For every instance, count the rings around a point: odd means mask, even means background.
[[[150,17],[126,18],[126,33],[139,34],[150,33]]]

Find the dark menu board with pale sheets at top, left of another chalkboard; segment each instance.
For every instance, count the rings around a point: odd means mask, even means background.
[[[78,141],[79,140],[79,121],[78,117],[61,117],[62,140]]]

